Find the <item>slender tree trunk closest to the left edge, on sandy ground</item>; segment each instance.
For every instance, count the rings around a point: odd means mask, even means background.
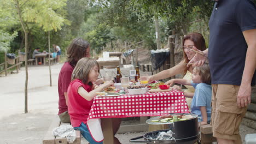
[[[22,29],[25,33],[25,53],[26,53],[26,58],[25,58],[25,69],[26,69],[26,79],[25,79],[25,113],[28,112],[27,110],[27,82],[28,82],[28,72],[27,72],[27,50],[28,50],[28,43],[27,43],[27,31],[26,31],[26,28],[24,26],[24,22],[22,20],[22,16],[21,16],[21,9],[20,9],[20,4],[19,4],[19,1],[16,0],[16,4],[17,4],[17,10],[18,10],[18,14],[19,14],[19,19],[20,19],[20,23],[21,23],[21,26],[22,26]]]

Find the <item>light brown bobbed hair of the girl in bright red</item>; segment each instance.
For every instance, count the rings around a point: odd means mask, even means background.
[[[73,70],[71,80],[79,79],[82,80],[83,83],[92,85],[91,82],[88,82],[89,74],[91,70],[97,65],[98,67],[98,73],[100,73],[100,66],[98,65],[98,62],[95,59],[84,57],[81,58],[77,65],[75,65],[75,68]]]

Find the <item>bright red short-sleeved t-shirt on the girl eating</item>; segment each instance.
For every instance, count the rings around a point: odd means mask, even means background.
[[[84,87],[87,92],[92,90],[91,86],[85,85],[81,80],[73,80],[68,86],[68,113],[73,127],[79,127],[86,123],[94,100],[88,101],[78,94],[78,88]]]

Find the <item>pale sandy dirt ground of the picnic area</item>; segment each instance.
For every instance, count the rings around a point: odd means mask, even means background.
[[[28,68],[28,113],[24,113],[25,68],[18,74],[0,75],[0,143],[42,143],[43,137],[58,111],[57,77],[62,64],[51,67],[53,86],[50,87],[49,67]],[[241,126],[242,138],[256,130]],[[123,144],[142,133],[117,134]],[[83,139],[83,143],[88,143]]]

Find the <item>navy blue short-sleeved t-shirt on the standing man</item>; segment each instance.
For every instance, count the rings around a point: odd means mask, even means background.
[[[247,43],[243,31],[256,29],[256,8],[249,0],[219,0],[209,21],[208,58],[213,84],[241,85]],[[255,85],[254,73],[252,85]]]

